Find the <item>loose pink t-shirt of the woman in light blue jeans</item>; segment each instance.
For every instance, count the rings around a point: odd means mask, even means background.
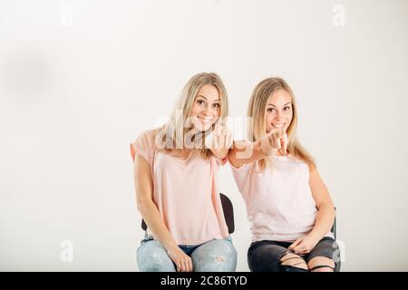
[[[219,164],[227,160],[204,160],[198,150],[187,160],[162,153],[156,150],[154,131],[144,131],[131,143],[133,159],[136,153],[151,165],[153,202],[178,245],[228,237],[218,190]],[[148,234],[153,236],[149,228]]]

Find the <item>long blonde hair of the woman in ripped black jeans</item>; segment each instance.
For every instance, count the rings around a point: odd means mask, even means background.
[[[256,141],[262,137],[267,131],[266,129],[266,111],[267,102],[269,97],[279,91],[285,90],[292,99],[292,121],[287,128],[287,152],[291,153],[294,158],[304,161],[309,169],[314,169],[316,167],[315,160],[312,156],[303,148],[300,142],[296,138],[296,127],[297,127],[297,106],[296,98],[292,89],[289,87],[287,82],[279,77],[267,78],[266,80],[259,82],[252,92],[251,98],[248,104],[248,117],[251,117],[250,123],[248,123],[248,140]],[[263,170],[266,165],[270,165],[269,159],[258,160],[259,169]]]

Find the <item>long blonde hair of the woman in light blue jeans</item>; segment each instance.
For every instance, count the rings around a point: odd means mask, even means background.
[[[179,101],[171,114],[170,121],[164,126],[156,130],[155,145],[159,150],[170,153],[177,157],[187,158],[188,149],[185,146],[185,137],[189,128],[185,128],[186,120],[188,119],[195,98],[199,89],[210,84],[217,88],[220,98],[220,113],[218,120],[212,124],[208,131],[202,132],[202,135],[196,139],[199,143],[199,153],[204,159],[209,159],[211,151],[204,146],[205,137],[214,130],[215,126],[225,117],[228,116],[228,97],[224,83],[216,73],[198,73],[189,79],[189,82],[184,86]],[[194,139],[195,136],[193,136]]]

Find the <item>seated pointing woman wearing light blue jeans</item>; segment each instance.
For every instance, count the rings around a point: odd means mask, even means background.
[[[138,209],[147,224],[138,248],[141,271],[235,271],[219,198],[219,165],[232,137],[224,84],[215,73],[194,75],[163,127],[131,143]]]

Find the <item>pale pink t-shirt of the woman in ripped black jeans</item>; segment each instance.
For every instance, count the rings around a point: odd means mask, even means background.
[[[293,242],[315,226],[316,202],[305,162],[286,156],[270,156],[272,168],[259,172],[257,162],[235,168],[238,189],[247,204],[252,241]],[[326,237],[333,237],[329,232]]]

